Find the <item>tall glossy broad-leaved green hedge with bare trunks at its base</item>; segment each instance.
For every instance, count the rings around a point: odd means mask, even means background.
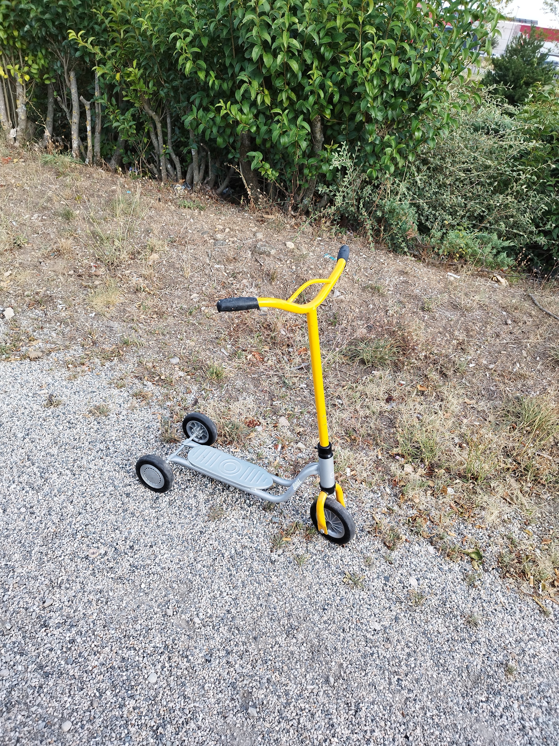
[[[54,137],[75,157],[91,104],[94,160],[122,154],[163,181],[188,169],[195,186],[206,166],[212,186],[239,163],[253,198],[306,210],[342,143],[374,178],[447,131],[469,105],[449,83],[495,22],[487,0],[0,0],[2,126],[10,138],[19,121],[8,90],[19,55],[34,120],[48,125],[50,82]]]

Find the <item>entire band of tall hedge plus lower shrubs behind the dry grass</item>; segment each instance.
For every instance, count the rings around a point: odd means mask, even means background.
[[[86,163],[329,203],[397,251],[550,266],[541,43],[493,60],[483,95],[464,84],[496,17],[486,0],[0,0],[0,123]]]

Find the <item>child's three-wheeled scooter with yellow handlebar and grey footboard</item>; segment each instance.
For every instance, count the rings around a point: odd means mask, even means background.
[[[203,414],[191,413],[183,420],[183,431],[186,440],[171,456],[162,459],[159,456],[142,456],[136,462],[136,474],[139,480],[154,492],[167,492],[173,485],[171,464],[186,466],[207,477],[220,480],[256,498],[271,503],[282,503],[291,498],[308,477],[320,477],[320,495],[311,506],[311,518],[315,527],[335,544],[346,544],[353,539],[356,528],[353,518],[347,512],[344,492],[334,477],[334,459],[332,446],[328,439],[326,422],[326,404],[320,361],[320,342],[318,339],[317,308],[326,295],[332,290],[344,271],[350,249],[344,245],[338,251],[338,260],[332,274],[327,280],[309,280],[298,288],[288,301],[280,298],[225,298],[218,301],[218,311],[246,311],[259,308],[279,308],[291,313],[304,313],[309,328],[309,349],[311,353],[312,381],[315,387],[315,404],[318,420],[318,463],[310,463],[294,479],[282,479],[270,474],[261,466],[239,459],[236,456],[212,448],[218,433],[215,424]],[[318,295],[309,303],[297,304],[295,299],[309,285],[321,284]],[[179,454],[187,451],[183,456]],[[268,492],[274,484],[285,487],[285,492],[276,495]]]

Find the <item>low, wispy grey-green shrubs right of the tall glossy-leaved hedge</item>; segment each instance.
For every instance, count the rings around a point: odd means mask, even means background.
[[[478,266],[559,261],[559,90],[522,107],[486,94],[435,146],[392,178],[370,181],[347,151],[328,187],[332,210],[394,250]]]

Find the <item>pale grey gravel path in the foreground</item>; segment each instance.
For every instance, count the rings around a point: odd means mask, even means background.
[[[177,468],[155,496],[157,404],[116,369],[0,371],[1,744],[559,743],[557,614],[495,571],[470,588],[417,539],[389,564],[351,499],[346,548],[271,553],[310,492],[266,512]]]

